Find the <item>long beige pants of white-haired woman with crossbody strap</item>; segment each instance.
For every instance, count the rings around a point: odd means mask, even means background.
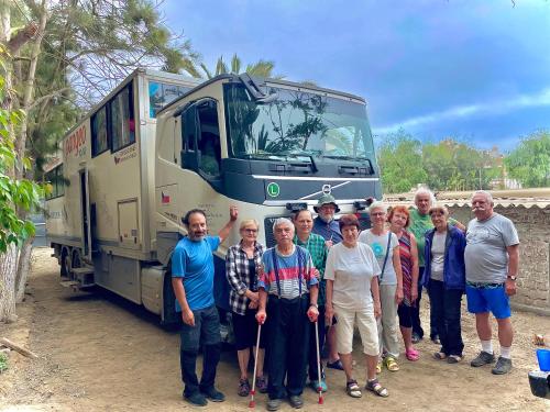
[[[395,303],[395,291],[397,285],[381,285],[380,301],[382,316],[376,325],[378,327],[380,356],[383,352],[397,358],[399,356],[399,341],[397,338],[397,304]]]

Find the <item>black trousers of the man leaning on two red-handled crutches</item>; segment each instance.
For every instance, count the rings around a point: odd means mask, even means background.
[[[310,325],[307,318],[309,294],[296,299],[270,296],[268,370],[270,399],[299,396],[306,385]],[[286,386],[285,386],[286,377]]]

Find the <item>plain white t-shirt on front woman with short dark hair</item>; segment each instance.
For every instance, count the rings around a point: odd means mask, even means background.
[[[380,275],[373,249],[364,243],[346,247],[339,243],[329,249],[324,279],[333,280],[332,304],[348,310],[373,305],[371,280]]]

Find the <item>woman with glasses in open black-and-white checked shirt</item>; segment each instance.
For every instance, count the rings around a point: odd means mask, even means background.
[[[226,276],[231,286],[229,303],[232,312],[237,357],[239,358],[239,369],[241,371],[238,393],[241,397],[246,397],[250,393],[248,377],[250,349],[255,347],[257,333],[255,314],[260,297],[256,267],[262,264],[264,254],[264,247],[256,241],[257,231],[258,224],[255,220],[242,221],[239,230],[241,242],[231,246],[226,257]],[[267,380],[263,376],[264,341],[261,339],[260,348],[255,348],[257,350],[256,387],[263,393],[267,391]]]

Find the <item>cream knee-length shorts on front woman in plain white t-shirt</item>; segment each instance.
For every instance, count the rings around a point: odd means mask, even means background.
[[[363,310],[346,310],[334,305],[337,318],[337,349],[338,353],[348,355],[353,350],[353,327],[356,324],[363,343],[363,353],[378,356],[378,330],[373,308]]]

